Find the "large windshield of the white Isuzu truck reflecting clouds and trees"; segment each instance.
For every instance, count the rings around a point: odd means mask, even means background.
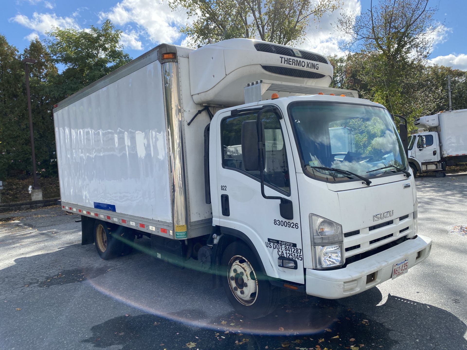
[[[290,117],[305,174],[336,182],[355,179],[336,168],[370,178],[406,169],[407,160],[389,112],[380,107],[299,102]]]

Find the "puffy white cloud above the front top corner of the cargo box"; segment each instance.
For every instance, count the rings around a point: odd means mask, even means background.
[[[153,43],[176,42],[181,36],[180,26],[189,21],[184,10],[172,11],[167,3],[154,0],[122,0],[99,17],[117,25],[136,23]]]

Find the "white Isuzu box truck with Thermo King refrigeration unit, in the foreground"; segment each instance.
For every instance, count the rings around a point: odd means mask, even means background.
[[[58,103],[82,244],[110,259],[146,236],[156,258],[198,259],[248,317],[281,287],[336,299],[406,273],[432,241],[395,123],[332,77],[324,56],[269,42],[162,44]],[[338,127],[365,137],[333,154]]]

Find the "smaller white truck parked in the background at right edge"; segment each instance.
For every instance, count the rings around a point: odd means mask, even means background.
[[[409,163],[414,174],[434,171],[446,176],[446,166],[467,162],[467,109],[444,111],[414,121],[422,132],[410,135]]]

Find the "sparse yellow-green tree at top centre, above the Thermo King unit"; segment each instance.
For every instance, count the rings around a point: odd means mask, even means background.
[[[169,0],[197,16],[181,28],[199,46],[208,39],[260,38],[287,45],[303,42],[311,21],[340,8],[340,0]]]

